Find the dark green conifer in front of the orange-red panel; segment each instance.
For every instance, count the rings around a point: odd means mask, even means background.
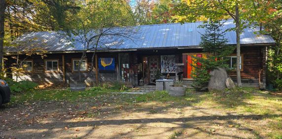
[[[192,87],[196,90],[201,90],[208,86],[211,77],[209,71],[216,67],[228,67],[226,64],[227,59],[224,58],[230,55],[235,47],[226,45],[228,40],[224,37],[225,31],[221,31],[222,26],[220,21],[210,21],[201,26],[205,28],[206,33],[201,36],[200,46],[204,52],[207,52],[207,57],[192,56],[195,60],[194,62],[201,64],[192,65],[195,68],[193,72],[195,80]]]

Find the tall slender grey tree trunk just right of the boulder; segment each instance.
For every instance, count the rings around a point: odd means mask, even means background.
[[[237,50],[237,67],[236,67],[236,73],[237,73],[237,84],[239,87],[242,86],[241,82],[241,72],[240,72],[240,19],[239,19],[239,7],[238,3],[236,4],[235,7],[236,10],[236,15],[235,15],[235,22],[236,22],[236,50]]]

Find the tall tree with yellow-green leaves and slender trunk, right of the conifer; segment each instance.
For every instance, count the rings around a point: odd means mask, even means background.
[[[281,0],[180,0],[175,6],[173,18],[176,22],[216,21],[232,18],[236,31],[237,56],[240,50],[240,34],[244,28],[273,23],[282,16]],[[278,24],[276,24],[278,23]],[[274,23],[273,31],[281,29],[280,22]],[[279,35],[279,33],[278,33]],[[281,33],[280,33],[281,35]],[[277,37],[281,41],[281,37]],[[276,65],[276,64],[274,64]],[[237,63],[237,83],[241,83],[239,63]]]

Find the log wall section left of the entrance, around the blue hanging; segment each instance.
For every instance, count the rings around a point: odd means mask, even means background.
[[[63,72],[63,55],[65,60],[65,82],[64,82],[64,72]],[[55,84],[55,83],[66,83],[68,84],[70,78],[78,78],[78,72],[72,71],[72,59],[80,59],[81,53],[65,53],[65,54],[48,54],[47,57],[43,59],[40,56],[32,56],[27,60],[33,61],[33,71],[23,72],[18,76],[18,81],[21,80],[30,80],[39,84]],[[91,57],[92,53],[87,54],[87,64],[88,69],[91,66]],[[114,57],[115,58],[115,71],[114,73],[99,73],[98,78],[99,82],[115,82],[118,77],[118,57],[117,54],[99,54],[98,57]],[[24,59],[25,56],[20,57]],[[45,71],[45,60],[58,60],[59,61],[59,71]],[[6,62],[6,68],[9,68],[13,63],[16,63],[14,59],[8,57]],[[82,72],[85,76],[87,72]],[[90,76],[86,80],[88,86],[95,85],[96,83],[96,69],[95,69],[95,60],[94,60],[94,69],[90,73]],[[12,78],[16,80],[15,73],[12,74]]]

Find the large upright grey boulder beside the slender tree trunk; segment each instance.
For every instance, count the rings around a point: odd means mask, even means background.
[[[228,78],[224,68],[215,68],[210,72],[211,78],[208,84],[209,91],[224,90],[226,88],[225,81]]]

